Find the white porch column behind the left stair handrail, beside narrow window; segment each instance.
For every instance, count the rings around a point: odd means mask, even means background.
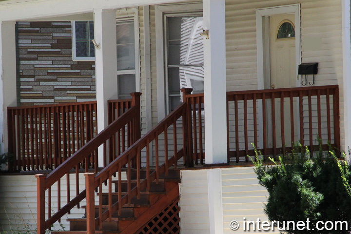
[[[96,97],[98,132],[108,125],[107,100],[117,99],[116,10],[94,11]],[[99,148],[99,167],[103,166],[103,151]]]

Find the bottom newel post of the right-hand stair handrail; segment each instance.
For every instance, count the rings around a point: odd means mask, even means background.
[[[95,173],[84,173],[87,234],[95,234]]]

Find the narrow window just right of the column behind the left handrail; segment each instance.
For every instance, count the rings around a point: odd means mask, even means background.
[[[117,21],[118,98],[130,98],[136,92],[136,39],[134,20]]]

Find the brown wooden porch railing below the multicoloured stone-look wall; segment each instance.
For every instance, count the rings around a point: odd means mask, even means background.
[[[10,169],[57,168],[95,137],[96,110],[96,101],[8,107],[8,149],[13,155]]]

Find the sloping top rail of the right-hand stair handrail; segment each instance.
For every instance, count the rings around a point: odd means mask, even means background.
[[[186,107],[186,102],[181,103],[175,110],[173,110],[167,118],[164,118],[161,122],[159,122],[155,127],[153,127],[147,134],[145,134],[143,137],[138,139],[133,145],[131,145],[126,151],[124,151],[120,156],[118,156],[115,160],[113,160],[108,166],[103,168],[96,176],[95,176],[95,185],[97,185],[98,181],[102,179],[103,181],[107,179],[109,175],[109,171],[112,170],[113,168],[116,168],[117,164],[119,162],[122,162],[122,160],[127,159],[127,156],[132,154],[135,150],[137,150],[138,147],[143,147],[144,145],[142,144],[143,141],[146,141],[150,137],[155,137],[155,134],[159,134],[163,131],[163,127],[165,124],[168,124],[174,117],[177,117],[183,109]],[[162,128],[161,128],[162,127]],[[151,142],[151,141],[150,141]],[[115,172],[113,172],[115,173]]]

